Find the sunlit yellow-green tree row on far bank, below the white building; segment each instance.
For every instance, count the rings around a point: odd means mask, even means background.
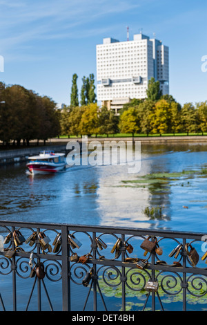
[[[125,104],[119,116],[113,110],[97,106],[95,99],[81,106],[66,106],[61,113],[61,134],[68,137],[115,133],[161,136],[207,132],[207,101],[181,106],[172,95],[162,95],[159,81],[155,82],[154,78],[149,80],[146,94],[145,100],[133,99]]]

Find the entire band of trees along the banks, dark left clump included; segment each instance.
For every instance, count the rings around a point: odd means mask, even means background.
[[[5,144],[12,140],[15,145],[23,140],[29,145],[30,140],[46,142],[57,136],[207,132],[207,101],[181,106],[172,95],[162,95],[153,78],[146,99],[132,99],[119,115],[98,106],[92,73],[82,82],[78,94],[77,74],[72,75],[70,105],[62,111],[50,97],[0,82],[0,140]]]

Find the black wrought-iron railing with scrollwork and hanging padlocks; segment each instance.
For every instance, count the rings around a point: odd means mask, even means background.
[[[204,308],[203,233],[12,221],[0,231],[1,310]]]

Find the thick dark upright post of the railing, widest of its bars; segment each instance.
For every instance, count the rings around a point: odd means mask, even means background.
[[[62,305],[63,311],[70,311],[70,262],[68,260],[68,227],[61,227],[61,245],[62,245]]]

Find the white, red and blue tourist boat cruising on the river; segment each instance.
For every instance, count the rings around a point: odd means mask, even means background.
[[[38,156],[28,157],[26,164],[30,174],[51,174],[57,173],[66,167],[66,157],[63,153],[54,151],[42,151]]]

